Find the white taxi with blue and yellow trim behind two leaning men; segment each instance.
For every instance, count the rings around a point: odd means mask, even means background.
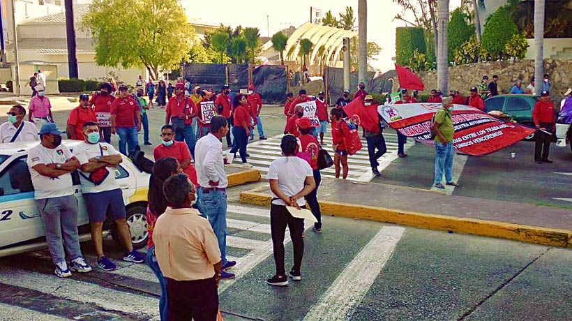
[[[27,155],[38,142],[0,144],[0,257],[37,251],[46,248],[43,221],[33,199],[33,185],[27,165]],[[63,140],[70,150],[78,141]],[[73,172],[75,197],[80,204],[77,227],[80,241],[91,239],[89,218],[82,197],[80,177]],[[146,245],[149,236],[146,229],[147,191],[149,174],[141,172],[126,156],[115,170],[116,183],[123,191],[127,224],[134,248]],[[114,223],[104,224],[106,234],[111,232],[114,241],[121,244]]]

